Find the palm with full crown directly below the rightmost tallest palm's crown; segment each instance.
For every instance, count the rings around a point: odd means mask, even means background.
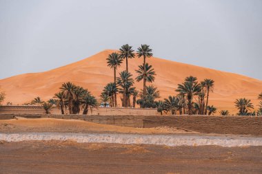
[[[152,83],[154,82],[154,76],[156,73],[154,72],[154,69],[152,68],[152,65],[148,65],[146,63],[145,65],[139,65],[139,69],[136,70],[136,72],[139,74],[137,76],[136,80],[139,82],[143,79],[143,95],[145,95],[145,87],[146,87],[146,82]]]

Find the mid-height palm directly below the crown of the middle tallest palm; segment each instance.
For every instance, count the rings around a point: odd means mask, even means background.
[[[128,107],[128,89],[132,87],[133,84],[134,80],[130,72],[123,71],[119,73],[119,77],[117,77],[117,85],[121,87],[119,92],[123,94],[123,107]]]

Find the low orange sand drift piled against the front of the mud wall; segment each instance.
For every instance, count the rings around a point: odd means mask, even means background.
[[[18,118],[12,120],[0,120],[0,132],[63,132],[63,133],[90,133],[90,132],[114,132],[114,133],[196,133],[185,131],[175,127],[133,128],[119,127],[108,124],[97,124],[82,120],[60,120],[54,118]]]

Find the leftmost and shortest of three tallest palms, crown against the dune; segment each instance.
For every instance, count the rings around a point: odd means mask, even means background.
[[[120,67],[123,59],[119,56],[118,53],[113,52],[112,54],[109,54],[106,60],[108,61],[108,67],[114,68],[114,85],[117,87],[117,67]],[[117,107],[117,92],[114,93],[114,105]]]

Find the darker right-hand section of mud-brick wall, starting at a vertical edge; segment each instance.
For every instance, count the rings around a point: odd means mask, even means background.
[[[181,127],[202,133],[262,135],[262,116],[147,116],[144,127]]]

